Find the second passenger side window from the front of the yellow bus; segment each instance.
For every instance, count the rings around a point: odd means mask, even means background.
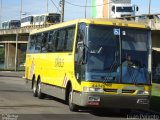
[[[63,51],[64,50],[64,42],[65,42],[65,36],[66,36],[66,30],[61,29],[59,31],[58,35],[58,45],[57,45],[57,51]]]

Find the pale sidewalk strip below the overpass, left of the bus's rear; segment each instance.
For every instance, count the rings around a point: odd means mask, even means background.
[[[0,77],[24,77],[24,71],[0,71]]]

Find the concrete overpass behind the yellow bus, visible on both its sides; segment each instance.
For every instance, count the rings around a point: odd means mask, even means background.
[[[142,22],[150,26],[152,30],[153,49],[160,53],[160,14],[129,16],[118,19],[140,23]],[[19,68],[20,65],[25,62],[27,48],[26,43],[28,42],[29,32],[33,29],[39,29],[43,27],[46,26],[0,30],[0,48],[4,48],[4,61],[0,58],[0,69],[17,70],[17,68]],[[156,62],[155,67],[160,66],[160,59],[158,61],[159,62]]]

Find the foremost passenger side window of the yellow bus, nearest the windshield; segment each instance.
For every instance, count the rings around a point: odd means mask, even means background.
[[[75,35],[75,26],[66,29],[66,40],[64,44],[64,51],[72,51],[74,35]]]

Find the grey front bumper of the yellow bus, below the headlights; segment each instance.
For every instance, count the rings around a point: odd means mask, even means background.
[[[79,96],[79,97],[78,97]],[[89,101],[89,97],[99,97],[99,101]],[[79,106],[97,108],[149,109],[150,97],[146,95],[79,93],[73,102]],[[93,104],[92,104],[93,103]]]

